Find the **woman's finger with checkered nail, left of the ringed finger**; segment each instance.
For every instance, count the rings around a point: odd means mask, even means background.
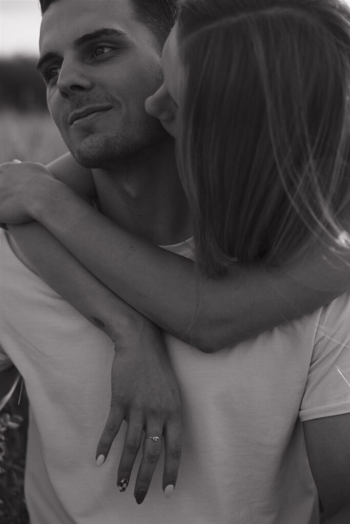
[[[125,492],[130,482],[131,471],[141,445],[143,425],[142,419],[134,418],[131,413],[116,481],[121,493]]]

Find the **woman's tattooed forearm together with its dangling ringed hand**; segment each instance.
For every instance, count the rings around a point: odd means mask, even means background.
[[[138,450],[130,452],[128,438],[141,442],[142,430],[150,422],[160,434],[164,429],[167,435],[164,488],[175,485],[180,462],[181,404],[161,331],[103,286],[43,226],[29,222],[8,228],[16,239],[15,243],[10,241],[16,255],[36,268],[52,289],[114,342],[111,408],[96,457],[107,457],[123,419],[129,421],[118,482],[129,479]],[[25,247],[25,259],[18,246]],[[156,463],[150,462],[149,456],[145,449],[136,492],[148,490],[151,483]]]

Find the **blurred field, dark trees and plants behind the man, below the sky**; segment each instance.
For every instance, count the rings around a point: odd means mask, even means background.
[[[0,163],[17,158],[48,163],[67,151],[46,107],[36,59],[0,59]],[[21,381],[20,381],[21,382]],[[20,383],[0,413],[0,523],[27,524],[24,466],[28,400]]]

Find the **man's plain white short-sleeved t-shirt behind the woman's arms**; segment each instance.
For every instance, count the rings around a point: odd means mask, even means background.
[[[30,400],[31,524],[313,524],[317,494],[304,420],[350,412],[350,296],[215,354],[165,335],[183,402],[174,495],[161,458],[144,503],[116,487],[125,427],[95,452],[110,403],[113,344],[12,252],[1,232],[0,369]],[[192,256],[188,243],[169,247]]]

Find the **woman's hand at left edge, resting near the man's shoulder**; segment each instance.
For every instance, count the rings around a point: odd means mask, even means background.
[[[0,222],[22,224],[33,220],[31,206],[52,178],[45,166],[34,162],[7,162],[0,165]]]

